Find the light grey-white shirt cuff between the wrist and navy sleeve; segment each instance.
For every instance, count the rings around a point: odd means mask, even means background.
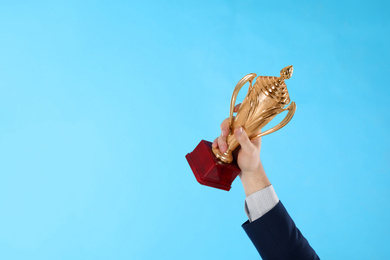
[[[245,213],[250,222],[261,218],[278,204],[279,198],[272,185],[256,191],[245,199]]]

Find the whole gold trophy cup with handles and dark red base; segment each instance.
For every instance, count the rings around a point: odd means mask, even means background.
[[[219,148],[211,147],[211,142],[202,140],[194,151],[186,155],[200,184],[230,190],[232,182],[241,172],[233,157],[234,150],[239,146],[234,137],[236,128],[242,127],[249,139],[253,140],[273,133],[290,122],[295,113],[296,105],[295,102],[290,103],[285,80],[291,78],[292,74],[293,66],[287,66],[280,71],[280,77],[258,76],[252,85],[257,75],[251,73],[237,83],[230,101],[230,132],[227,136],[228,148],[226,152],[221,153]],[[248,93],[237,114],[233,116],[237,95],[247,82],[249,82]],[[286,105],[287,107],[285,107]],[[261,132],[261,129],[277,114],[284,111],[288,111],[288,113],[279,124]]]

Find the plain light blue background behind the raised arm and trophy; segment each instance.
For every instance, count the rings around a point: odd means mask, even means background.
[[[258,259],[184,156],[290,64],[279,198],[321,258],[390,258],[388,1],[33,2],[0,4],[0,259]]]

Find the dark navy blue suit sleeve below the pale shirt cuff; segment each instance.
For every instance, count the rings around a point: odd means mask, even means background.
[[[319,259],[280,201],[264,216],[242,227],[264,260]]]

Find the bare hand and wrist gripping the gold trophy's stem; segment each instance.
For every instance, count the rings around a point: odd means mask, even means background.
[[[237,105],[234,108],[234,112],[238,111],[239,106]],[[222,153],[226,152],[226,138],[229,133],[229,118],[227,118],[221,124],[221,135],[214,140],[213,147],[218,147]],[[238,167],[241,169],[241,182],[244,186],[245,194],[248,196],[271,185],[260,160],[261,139],[249,140],[242,127],[235,129],[234,136],[240,143],[240,147],[237,148],[238,151],[235,151],[235,155]]]

